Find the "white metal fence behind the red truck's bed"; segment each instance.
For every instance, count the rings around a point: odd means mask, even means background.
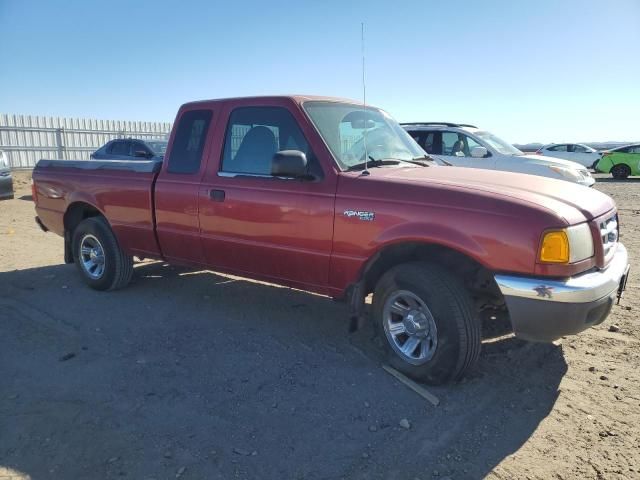
[[[88,160],[114,138],[164,138],[170,130],[169,122],[0,114],[0,150],[12,168],[33,168],[41,158]]]

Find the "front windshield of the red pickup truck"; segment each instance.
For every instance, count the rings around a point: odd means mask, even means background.
[[[386,112],[336,102],[305,102],[316,129],[343,170],[365,161],[428,158],[420,146]],[[366,143],[366,152],[365,152]]]

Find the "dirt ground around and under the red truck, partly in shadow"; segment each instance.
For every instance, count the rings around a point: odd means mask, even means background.
[[[434,407],[327,298],[159,262],[88,289],[16,177],[0,202],[0,479],[640,478],[637,264],[602,325],[486,341],[468,379],[429,388]],[[640,181],[596,188],[633,264]]]

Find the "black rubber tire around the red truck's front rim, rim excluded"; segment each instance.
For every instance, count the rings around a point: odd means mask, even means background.
[[[400,292],[417,296],[428,307],[435,323],[436,345],[433,346],[430,340],[433,353],[422,364],[409,363],[396,352],[394,348],[399,347],[393,346],[385,331],[385,305],[395,298],[402,298],[398,297],[402,295]],[[376,285],[372,312],[389,363],[408,377],[431,385],[459,380],[480,356],[481,322],[475,315],[471,297],[455,276],[438,265],[405,263],[389,270]],[[403,321],[397,324],[400,323],[404,324]]]

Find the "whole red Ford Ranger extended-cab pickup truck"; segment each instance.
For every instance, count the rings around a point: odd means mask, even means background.
[[[89,286],[162,259],[346,300],[352,325],[373,293],[390,361],[427,383],[474,364],[483,316],[533,341],[602,322],[629,268],[608,196],[439,166],[348,100],[188,103],[164,160],[41,160],[33,182],[37,222]]]

